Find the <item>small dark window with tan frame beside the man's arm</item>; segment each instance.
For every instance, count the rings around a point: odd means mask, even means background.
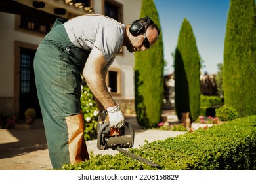
[[[112,94],[121,95],[121,70],[111,67],[106,77],[106,84]]]

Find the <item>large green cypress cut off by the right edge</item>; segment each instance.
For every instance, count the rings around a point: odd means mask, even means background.
[[[256,114],[255,0],[230,0],[224,41],[225,104],[238,116]]]

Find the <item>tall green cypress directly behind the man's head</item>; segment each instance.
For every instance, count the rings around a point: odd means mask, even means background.
[[[161,29],[153,0],[143,0],[140,18],[148,16]],[[145,52],[135,53],[135,110],[142,127],[156,127],[163,105],[163,41],[158,41]]]

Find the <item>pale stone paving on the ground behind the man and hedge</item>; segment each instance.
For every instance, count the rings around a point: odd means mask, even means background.
[[[177,123],[177,116],[165,112],[168,122]],[[144,130],[137,124],[135,116],[125,118],[135,129],[135,144],[139,148],[145,141],[164,140],[184,134],[182,131]],[[40,122],[37,122],[40,123]],[[42,122],[41,122],[42,123]],[[38,125],[38,124],[37,124]],[[43,125],[32,129],[0,129],[0,170],[52,169]],[[93,154],[116,154],[116,150],[98,150],[96,140],[87,141],[87,149]]]

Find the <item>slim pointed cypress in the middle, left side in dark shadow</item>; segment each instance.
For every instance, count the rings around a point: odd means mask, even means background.
[[[190,112],[195,121],[200,114],[200,56],[188,20],[184,18],[175,52],[175,108],[178,118]]]

